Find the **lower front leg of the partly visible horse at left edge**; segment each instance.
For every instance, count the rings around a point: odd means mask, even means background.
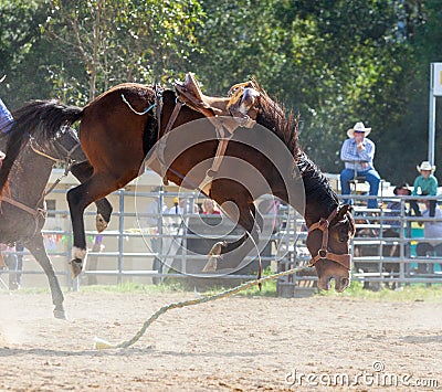
[[[35,234],[30,242],[25,245],[35,257],[36,262],[41,265],[44,273],[48,276],[49,286],[51,288],[52,304],[54,304],[54,316],[55,318],[65,319],[66,314],[64,311],[64,296],[60,287],[59,278],[55,275],[54,267],[48,257],[48,253],[44,248],[43,235],[41,233]]]

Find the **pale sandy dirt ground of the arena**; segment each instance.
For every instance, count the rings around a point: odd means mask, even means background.
[[[48,294],[2,292],[0,390],[442,390],[442,303],[236,296],[173,309],[128,349],[93,349],[192,297],[67,293],[62,321]]]

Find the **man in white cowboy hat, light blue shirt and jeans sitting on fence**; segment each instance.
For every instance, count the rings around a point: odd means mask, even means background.
[[[340,159],[345,162],[345,169],[340,172],[341,194],[350,194],[349,181],[355,174],[365,177],[370,186],[369,195],[378,195],[380,176],[373,167],[375,144],[367,138],[371,128],[366,128],[364,123],[356,123],[347,130],[346,139],[340,149]],[[352,203],[352,200],[344,200],[346,203]],[[369,199],[367,202],[369,209],[377,209],[378,201]]]

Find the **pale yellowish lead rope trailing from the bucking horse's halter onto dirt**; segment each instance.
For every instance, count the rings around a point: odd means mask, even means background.
[[[185,306],[204,304],[204,303],[209,303],[211,300],[215,300],[215,299],[220,299],[220,298],[225,298],[225,297],[229,297],[229,296],[231,296],[233,294],[238,294],[238,293],[240,293],[242,290],[245,290],[245,289],[248,289],[250,287],[253,287],[253,286],[256,286],[259,284],[265,283],[267,280],[273,280],[273,279],[276,279],[276,278],[282,277],[282,276],[295,274],[295,273],[297,273],[297,272],[299,272],[302,269],[304,269],[304,267],[296,267],[296,268],[283,271],[283,272],[274,274],[274,275],[264,276],[261,279],[245,282],[240,286],[230,288],[230,289],[221,292],[219,294],[214,294],[214,295],[211,295],[211,296],[206,296],[206,297],[202,297],[202,298],[188,299],[188,300],[185,300],[182,303],[173,303],[173,304],[166,305],[162,308],[160,308],[159,310],[157,310],[152,316],[150,316],[150,318],[145,321],[145,324],[143,325],[141,329],[131,339],[123,341],[123,342],[119,342],[119,343],[116,343],[116,345],[113,345],[113,343],[107,342],[106,340],[103,340],[103,339],[99,339],[99,338],[95,338],[94,339],[95,340],[94,341],[94,349],[103,350],[103,349],[127,348],[127,347],[134,345],[136,341],[138,341],[139,338],[141,338],[141,336],[146,332],[146,329],[159,316],[164,315],[168,310],[183,308]]]

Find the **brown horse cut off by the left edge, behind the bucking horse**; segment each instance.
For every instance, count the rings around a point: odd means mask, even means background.
[[[4,148],[10,135],[30,119],[31,107],[25,106],[14,113],[11,134],[0,138],[1,149]],[[42,235],[46,219],[45,187],[55,162],[73,163],[72,173],[81,182],[87,179],[91,168],[72,128],[59,129],[59,133],[51,137],[45,137],[43,134],[38,134],[36,137],[27,134],[25,137],[27,142],[20,149],[11,168],[8,187],[0,197],[0,243],[20,242],[31,252],[48,276],[54,316],[65,319],[64,296],[45,251]],[[96,205],[96,226],[102,231],[109,222],[112,205],[106,199],[97,200]]]

